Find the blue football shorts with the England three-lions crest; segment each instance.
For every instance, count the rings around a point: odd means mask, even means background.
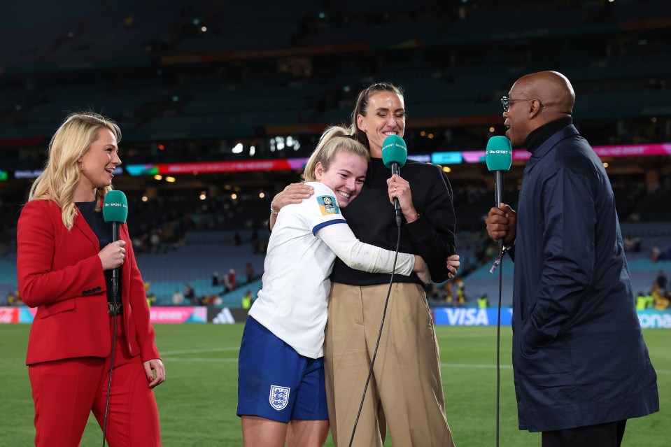
[[[238,361],[238,416],[326,420],[324,357],[311,359],[247,318]]]

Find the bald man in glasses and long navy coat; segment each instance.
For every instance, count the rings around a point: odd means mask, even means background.
[[[628,418],[659,410],[635,311],[613,191],[572,123],[575,94],[556,71],[523,76],[501,99],[506,136],[531,152],[518,213],[488,213],[514,244],[513,372],[520,430],[543,447],[620,446]]]

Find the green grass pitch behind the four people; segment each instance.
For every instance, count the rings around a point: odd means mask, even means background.
[[[0,446],[34,444],[33,402],[24,366],[29,325],[0,325]],[[155,325],[167,381],[156,390],[163,445],[241,446],[235,416],[237,356],[243,325]],[[496,328],[436,328],[446,412],[455,444],[495,445]],[[671,331],[644,336],[658,374],[661,412],[630,420],[623,446],[669,446]],[[501,330],[500,445],[540,446],[540,435],[520,432],[510,360],[511,331]],[[102,444],[93,416],[82,446]],[[327,446],[332,446],[329,438]],[[387,439],[386,446],[391,446]]]

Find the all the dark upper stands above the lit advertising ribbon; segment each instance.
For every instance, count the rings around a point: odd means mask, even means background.
[[[480,148],[502,129],[498,98],[543,69],[572,80],[586,127],[628,120],[614,132],[637,134],[671,114],[663,0],[497,3],[3,4],[0,144],[43,146],[88,109],[118,120],[125,142],[316,135],[349,120],[362,85],[391,80],[408,129]]]

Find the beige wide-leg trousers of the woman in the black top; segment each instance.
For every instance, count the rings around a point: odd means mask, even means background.
[[[346,447],[375,350],[388,285],[334,283],[324,343],[326,392],[336,446]],[[395,283],[353,446],[453,446],[440,357],[423,288]]]

